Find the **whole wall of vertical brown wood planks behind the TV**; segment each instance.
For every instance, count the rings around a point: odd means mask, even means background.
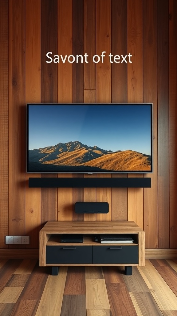
[[[48,220],[133,220],[146,248],[177,248],[176,16],[176,0],[0,1],[1,249],[37,249]],[[103,51],[104,63],[93,63]],[[88,63],[49,64],[47,52],[87,52]],[[130,52],[132,63],[110,63],[110,52]],[[28,188],[27,102],[153,102],[154,172],[144,175],[151,188]],[[75,214],[77,201],[107,201],[110,211]],[[7,246],[5,235],[30,235],[30,245]]]

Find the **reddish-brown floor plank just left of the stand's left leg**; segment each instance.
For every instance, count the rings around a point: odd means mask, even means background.
[[[38,264],[31,272],[24,290],[22,291],[20,300],[40,300],[48,278],[48,273],[45,267],[39,267]]]

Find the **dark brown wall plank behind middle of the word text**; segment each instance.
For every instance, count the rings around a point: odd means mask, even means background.
[[[118,30],[118,31],[117,31]],[[111,1],[111,53],[127,55],[127,1]],[[127,64],[111,64],[112,103],[127,102]],[[127,177],[112,174],[112,177]],[[127,221],[127,188],[112,188],[112,221]]]

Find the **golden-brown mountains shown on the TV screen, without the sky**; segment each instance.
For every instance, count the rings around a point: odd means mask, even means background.
[[[83,145],[79,141],[58,143],[28,152],[29,170],[31,172],[80,172],[112,170],[150,170],[151,160],[149,155],[133,150],[101,149],[97,146]]]

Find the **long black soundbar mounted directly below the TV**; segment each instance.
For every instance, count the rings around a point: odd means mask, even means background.
[[[29,178],[29,188],[150,188],[151,178]]]

